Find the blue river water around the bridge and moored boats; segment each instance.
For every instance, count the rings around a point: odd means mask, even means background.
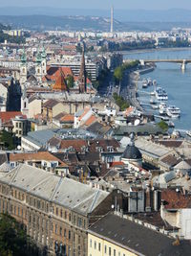
[[[171,58],[171,59],[191,59],[190,49],[176,50],[156,50],[145,52],[129,52],[125,53],[124,58],[127,59],[156,59],[156,58]],[[167,105],[176,105],[180,107],[180,119],[173,120],[176,128],[191,129],[191,64],[187,64],[186,70],[183,72],[178,63],[157,63],[155,71],[141,76],[143,78],[151,78],[156,80],[160,87],[163,87],[168,93]],[[141,103],[149,103],[149,92],[154,88],[141,89],[138,86],[138,97]],[[143,93],[142,93],[143,91]],[[146,94],[147,93],[147,94]],[[146,106],[145,106],[146,107]],[[147,107],[148,111],[152,111]]]

